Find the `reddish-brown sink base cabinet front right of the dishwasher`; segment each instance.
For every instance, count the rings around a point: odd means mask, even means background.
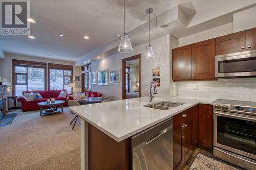
[[[193,153],[193,139],[196,138],[194,135],[197,134],[193,132],[194,128],[196,128],[194,126],[195,111],[197,111],[197,107],[185,110],[173,118],[174,169],[182,169]]]

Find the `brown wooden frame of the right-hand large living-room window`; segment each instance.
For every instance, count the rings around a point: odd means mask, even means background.
[[[65,83],[65,77],[70,77],[70,83],[73,82],[73,65],[63,65],[63,64],[53,64],[48,63],[48,89],[50,90],[50,69],[60,69],[63,70],[63,89],[65,89],[65,85],[68,85],[68,83]],[[71,76],[65,75],[65,70],[71,70]],[[63,90],[62,89],[62,90]]]

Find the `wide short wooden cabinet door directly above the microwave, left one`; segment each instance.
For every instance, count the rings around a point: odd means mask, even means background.
[[[216,55],[237,53],[246,50],[246,31],[216,38]]]

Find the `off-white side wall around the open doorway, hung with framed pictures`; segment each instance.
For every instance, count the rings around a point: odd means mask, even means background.
[[[134,52],[130,54],[121,54],[104,58],[92,63],[92,72],[101,69],[120,69],[123,58],[141,54],[141,96],[147,96],[148,84],[152,81],[152,69],[161,68],[161,86],[157,87],[158,94],[156,96],[169,96],[169,35],[165,35],[151,41],[155,53],[155,61],[143,60],[143,53],[147,43],[133,47]],[[121,75],[120,75],[121,76]],[[122,99],[122,84],[110,83],[108,86],[92,85],[93,91],[99,91],[103,95],[115,95],[117,100]]]

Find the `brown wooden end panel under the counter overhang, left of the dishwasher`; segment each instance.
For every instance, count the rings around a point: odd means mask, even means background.
[[[130,138],[115,141],[88,125],[88,167],[90,170],[130,169]]]

